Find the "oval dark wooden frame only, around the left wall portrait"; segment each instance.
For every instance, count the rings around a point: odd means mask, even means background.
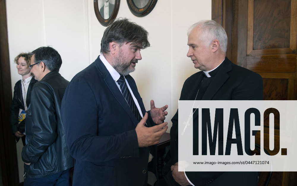
[[[118,15],[120,0],[115,0],[113,11],[111,12],[108,19],[104,19],[104,17],[102,17],[102,15],[100,14],[98,1],[104,1],[104,0],[94,0],[94,10],[95,10],[96,17],[101,25],[108,26],[110,23],[112,23],[115,20],[116,16]]]

